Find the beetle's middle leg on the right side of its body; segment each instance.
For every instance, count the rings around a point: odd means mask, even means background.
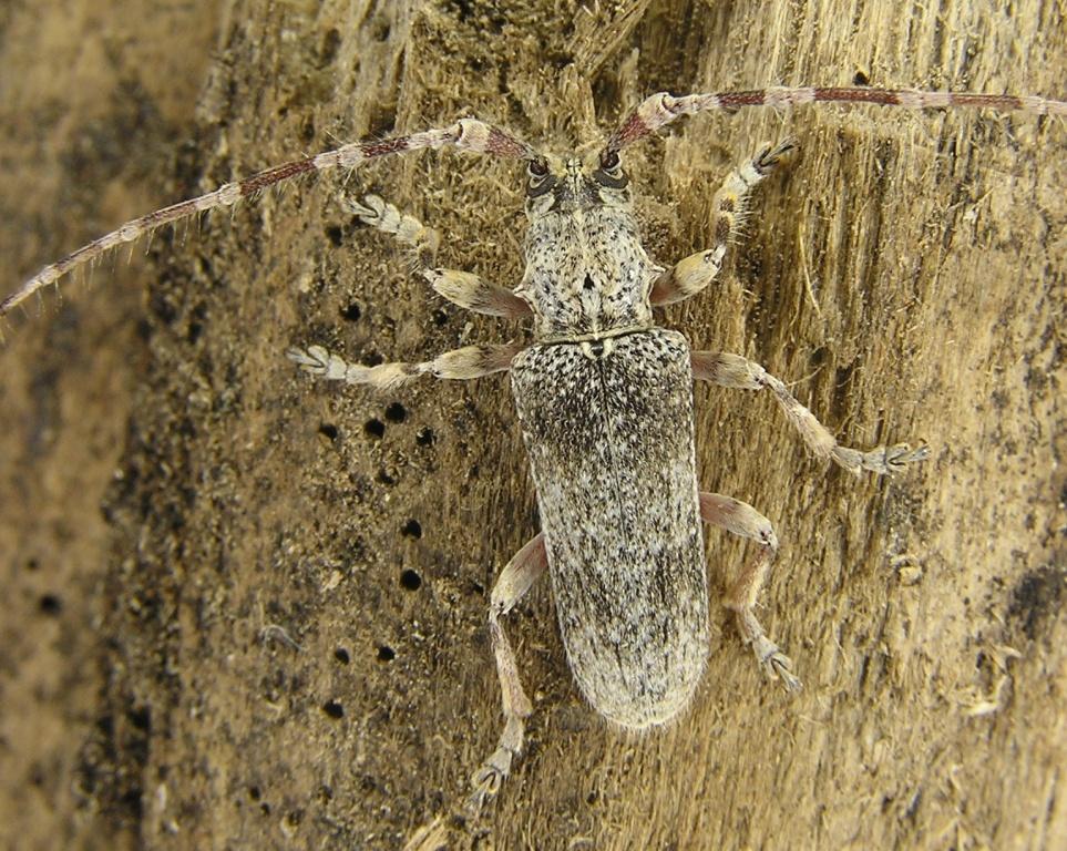
[[[834,440],[830,430],[789,392],[782,380],[770,375],[759,363],[740,355],[728,355],[721,351],[694,351],[691,358],[695,379],[714,381],[720,387],[738,390],[770,390],[808,448],[819,458],[829,458],[850,473],[859,475],[861,470],[870,470],[883,475],[896,473],[905,464],[924,461],[930,457],[929,448],[912,449],[906,443],[879,447],[866,452],[842,447]]]

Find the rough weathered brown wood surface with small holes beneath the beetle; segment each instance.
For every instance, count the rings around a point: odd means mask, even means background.
[[[0,11],[4,291],[202,185],[465,113],[566,146],[660,89],[1067,95],[1061,7],[1032,0],[171,6]],[[765,683],[714,606],[691,712],[619,734],[583,706],[541,588],[509,624],[531,746],[482,848],[1067,843],[1065,129],[694,120],[628,153],[655,253],[705,245],[718,181],[786,134],[802,157],[665,321],[796,381],[842,439],[925,439],[933,460],[853,481],[771,399],[698,388],[701,484],[777,524],[761,617],[807,690]],[[519,180],[422,155],[348,187],[510,283]],[[0,844],[401,848],[493,747],[488,589],[536,529],[505,380],[373,398],[283,352],[421,359],[521,330],[432,297],[342,214],[342,183],[157,237],[8,335]],[[745,547],[709,539],[717,598]]]

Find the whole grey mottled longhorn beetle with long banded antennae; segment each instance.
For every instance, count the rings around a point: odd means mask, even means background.
[[[640,730],[678,716],[705,667],[708,602],[700,523],[753,541],[758,552],[728,591],[726,605],[760,666],[787,688],[800,687],[790,659],[753,614],[778,548],[770,522],[751,505],[699,490],[694,380],[770,391],[817,457],[856,474],[889,474],[927,457],[925,448],[906,444],[868,451],[839,445],[780,379],[737,355],[690,351],[681,335],[657,327],[653,318],[654,306],[689,298],[716,277],[752,189],[794,143],[767,146],[729,174],[712,201],[712,244],[671,268],[653,263],[642,245],[623,150],[685,115],[820,101],[1067,114],[1067,103],[1060,101],[969,93],[823,88],[680,98],[659,93],[647,98],[591,158],[543,152],[500,127],[464,119],[294,160],[127,222],[45,266],[0,303],[0,317],[111,248],[300,174],[443,147],[525,166],[526,266],[514,289],[431,266],[437,235],[378,196],[349,202],[348,208],[412,248],[422,276],[452,303],[474,312],[530,318],[530,346],[469,346],[419,363],[371,367],[349,363],[318,345],[288,352],[314,376],[372,388],[423,375],[472,379],[511,371],[542,531],[507,563],[492,592],[489,626],[504,730],[472,777],[469,806],[478,811],[511,771],[532,711],[500,618],[545,572],[582,693],[608,720]]]

